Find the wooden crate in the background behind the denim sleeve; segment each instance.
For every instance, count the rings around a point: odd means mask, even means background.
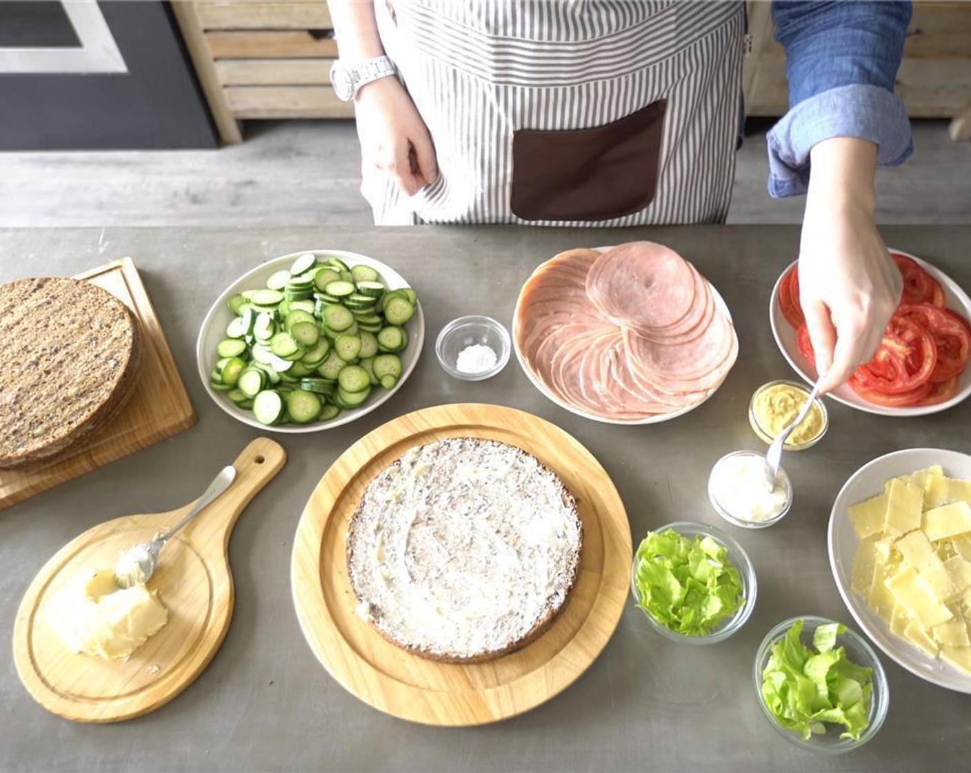
[[[782,116],[788,108],[786,54],[775,41],[769,3],[749,3],[749,32],[747,112]],[[894,90],[911,118],[951,118],[952,138],[971,138],[971,2],[914,4]]]

